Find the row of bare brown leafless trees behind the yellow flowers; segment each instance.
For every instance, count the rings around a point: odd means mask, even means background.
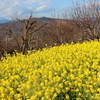
[[[62,43],[83,42],[100,38],[100,2],[98,0],[83,0],[83,4],[75,3],[73,7],[64,11],[63,19],[49,20],[47,23],[39,23],[33,20],[32,14],[28,19],[17,19],[19,30],[14,34],[12,26],[5,30],[5,45],[0,42],[0,55],[4,51],[11,51],[9,36],[13,38],[16,47],[13,50],[27,53],[27,50],[43,48]],[[12,51],[13,51],[12,50]]]

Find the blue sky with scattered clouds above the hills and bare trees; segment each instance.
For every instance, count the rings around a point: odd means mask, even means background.
[[[81,3],[81,0],[0,0],[0,19],[27,17],[31,12],[35,17],[52,17],[54,11],[61,13],[72,2]]]

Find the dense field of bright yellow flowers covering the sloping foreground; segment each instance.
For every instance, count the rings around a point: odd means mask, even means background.
[[[100,42],[7,55],[0,100],[100,100]]]

